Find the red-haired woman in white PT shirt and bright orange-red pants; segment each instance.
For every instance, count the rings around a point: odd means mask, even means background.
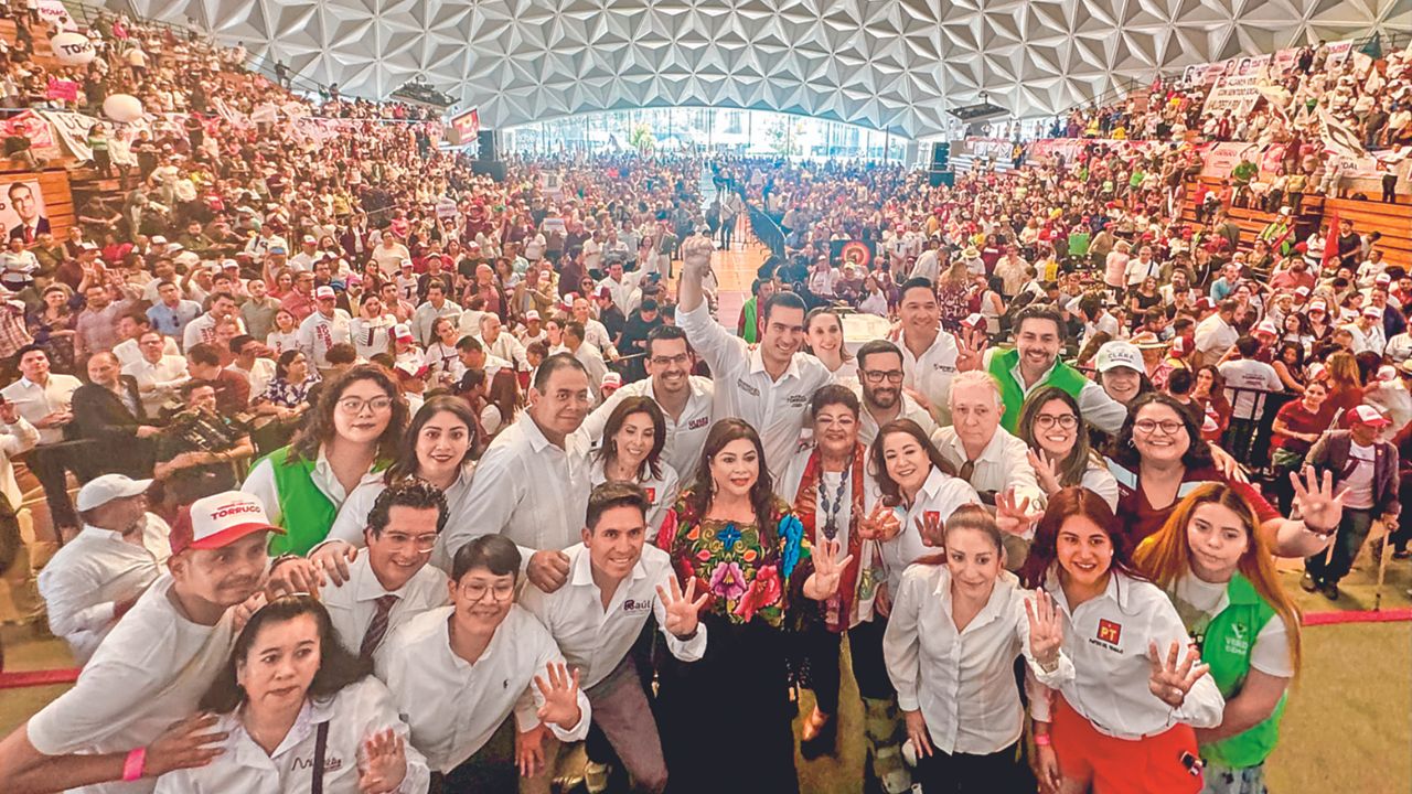
[[[1060,794],[1196,794],[1193,728],[1221,722],[1176,608],[1135,574],[1121,523],[1083,487],[1049,497],[1021,571],[1053,598],[1075,677],[1035,699],[1041,780]]]

